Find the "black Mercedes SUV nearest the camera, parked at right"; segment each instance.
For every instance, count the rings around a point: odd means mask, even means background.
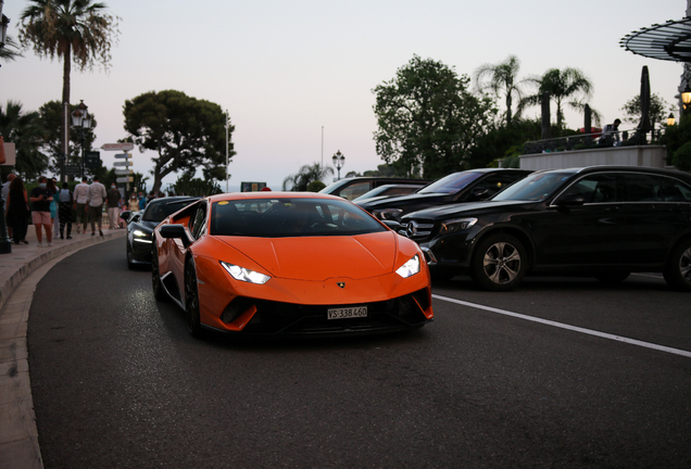
[[[432,274],[468,272],[505,291],[528,271],[578,272],[618,282],[663,272],[691,291],[691,175],[633,166],[535,173],[487,202],[411,213]]]

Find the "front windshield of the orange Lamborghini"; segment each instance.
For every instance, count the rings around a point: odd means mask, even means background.
[[[211,234],[260,238],[353,236],[386,231],[367,212],[341,200],[243,199],[212,205]]]

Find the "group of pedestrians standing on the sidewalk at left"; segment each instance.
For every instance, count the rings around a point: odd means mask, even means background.
[[[118,226],[121,193],[115,185],[106,192],[98,176],[93,177],[90,185],[86,177],[81,178],[81,183],[75,187],[74,193],[67,182],[63,182],[59,190],[54,179],[41,176],[38,178],[38,187],[27,194],[22,178],[10,174],[2,186],[2,197],[5,201],[8,234],[15,244],[28,244],[26,232],[29,213],[38,245],[43,245],[43,232],[47,245],[52,245],[56,221],[60,223],[60,239],[72,239],[73,210],[76,213],[77,233],[86,234],[87,224],[90,221],[91,236],[96,236],[97,225],[99,234],[103,236],[101,224],[104,202],[109,207],[111,228]],[[111,211],[113,207],[115,211]]]

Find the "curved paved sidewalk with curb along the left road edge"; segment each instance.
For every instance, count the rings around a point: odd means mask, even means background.
[[[28,244],[12,243],[12,252],[0,254],[0,469],[42,468],[36,416],[32,400],[26,329],[36,284],[60,259],[80,249],[124,238],[125,229],[103,229],[98,234],[77,234],[71,240],[53,238],[53,245],[39,246],[34,226]],[[123,262],[125,243],[123,241]],[[35,275],[33,275],[35,274]],[[26,280],[26,281],[24,281]]]

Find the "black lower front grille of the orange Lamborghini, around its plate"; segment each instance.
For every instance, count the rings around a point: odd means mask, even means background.
[[[332,307],[367,306],[367,317],[327,319]],[[247,334],[340,334],[410,329],[428,322],[427,289],[397,299],[354,305],[298,305],[240,296],[226,307],[221,319],[229,324],[251,307],[256,313],[243,328]]]

